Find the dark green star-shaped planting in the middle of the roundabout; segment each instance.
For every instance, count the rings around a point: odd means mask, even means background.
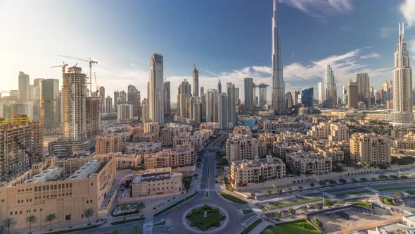
[[[206,217],[205,217],[205,211]],[[210,227],[219,227],[220,221],[225,216],[219,213],[219,209],[213,209],[208,205],[204,205],[198,209],[193,209],[191,214],[186,215],[186,218],[191,222],[191,227],[198,227],[200,230],[208,230]]]

